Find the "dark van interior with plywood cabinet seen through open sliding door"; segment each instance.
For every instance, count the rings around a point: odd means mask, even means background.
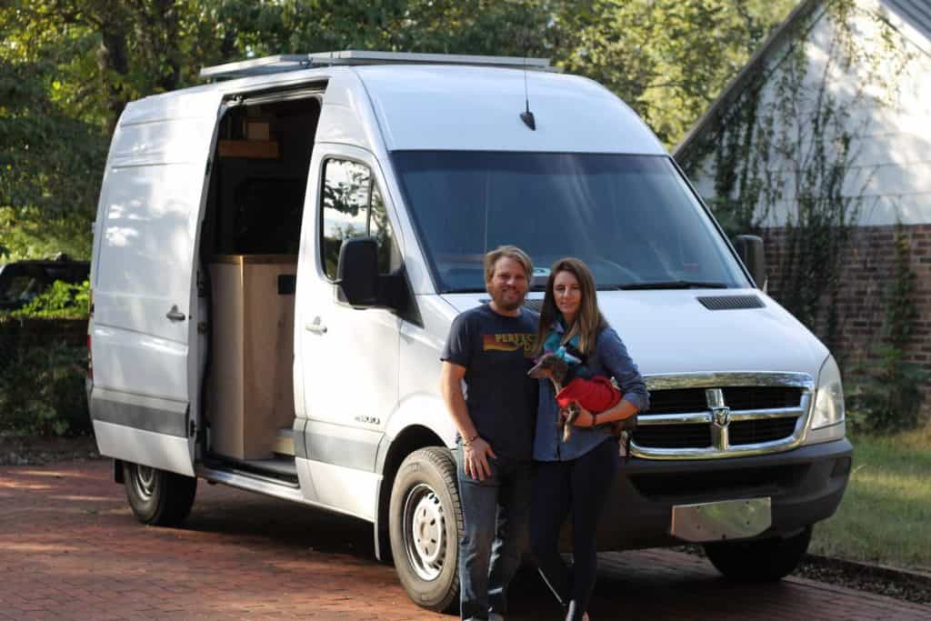
[[[322,91],[227,101],[201,229],[205,462],[292,484],[294,289]]]

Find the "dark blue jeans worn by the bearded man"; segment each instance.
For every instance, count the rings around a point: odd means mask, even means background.
[[[528,548],[532,462],[503,456],[488,461],[492,476],[471,479],[463,470],[462,445],[456,451],[465,521],[459,542],[463,619],[506,614],[506,587]]]

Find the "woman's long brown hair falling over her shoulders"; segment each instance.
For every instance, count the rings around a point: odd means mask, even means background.
[[[549,269],[543,307],[540,309],[540,325],[536,330],[536,341],[533,344],[534,355],[540,356],[543,354],[543,344],[549,335],[550,327],[557,317],[560,317],[560,310],[556,307],[556,295],[553,292],[553,283],[556,281],[556,275],[560,272],[569,272],[579,281],[579,292],[582,295],[579,312],[575,316],[573,325],[566,326],[562,343],[568,343],[575,334],[578,334],[579,350],[584,356],[590,356],[595,351],[595,344],[598,343],[600,331],[608,327],[608,322],[605,321],[598,309],[595,277],[591,275],[591,270],[588,269],[585,263],[573,257],[560,259],[553,263],[553,266]]]

